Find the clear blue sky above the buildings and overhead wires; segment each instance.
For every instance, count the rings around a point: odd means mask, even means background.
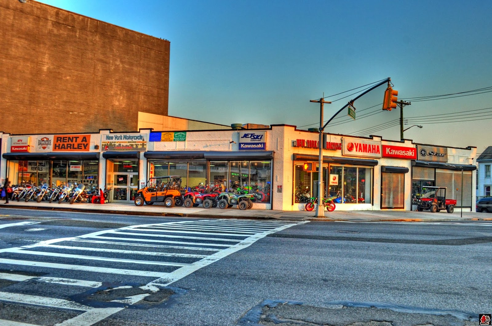
[[[357,96],[339,99],[355,91],[332,95],[386,77],[399,98],[492,87],[490,0],[41,2],[169,40],[169,115],[183,118],[308,128],[319,125],[319,104],[310,99],[324,94],[333,101],[325,104],[327,120]],[[356,115],[382,111],[367,108],[382,102],[384,90],[357,100]],[[450,118],[443,114],[456,117],[477,109],[486,110],[461,119],[477,121],[443,120]],[[405,106],[404,117],[423,118],[404,128],[440,123],[413,127],[404,136],[426,144],[476,146],[481,153],[492,146],[487,114],[492,114],[492,93],[414,101]],[[340,113],[326,131],[368,129],[363,135],[400,138],[399,126],[369,132],[376,125],[394,125],[399,109],[336,125],[345,116]]]

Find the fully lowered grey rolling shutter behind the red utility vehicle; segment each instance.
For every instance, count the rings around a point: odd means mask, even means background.
[[[471,182],[472,171],[463,171],[463,207],[471,207]],[[461,207],[461,171],[435,169],[435,185],[446,187],[446,197],[456,199],[456,207]]]

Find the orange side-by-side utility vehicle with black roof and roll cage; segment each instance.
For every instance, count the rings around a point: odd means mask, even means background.
[[[164,202],[166,207],[182,206],[184,193],[184,189],[181,189],[180,176],[152,177],[147,181],[145,188],[137,191],[135,205],[142,206],[144,203],[153,205],[154,202]]]

